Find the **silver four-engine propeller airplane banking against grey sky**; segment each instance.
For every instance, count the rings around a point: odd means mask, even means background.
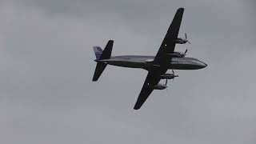
[[[94,61],[97,62],[97,66],[94,71],[93,82],[98,81],[98,78],[101,76],[107,65],[147,70],[148,74],[146,80],[134,106],[134,110],[138,110],[142,107],[143,103],[146,102],[146,99],[150,96],[153,90],[166,89],[167,80],[178,77],[178,75],[174,74],[174,70],[198,70],[205,68],[207,66],[205,62],[201,62],[196,58],[186,57],[187,50],[184,53],[174,51],[176,44],[190,43],[186,39],[186,34],[185,38],[178,38],[178,31],[181,26],[183,13],[184,8],[179,8],[177,10],[156,56],[111,56],[114,44],[113,40],[107,42],[104,50],[99,46],[94,46],[94,53],[96,56]],[[172,70],[173,73],[166,73],[167,70]],[[158,83],[162,79],[166,79],[165,84]]]

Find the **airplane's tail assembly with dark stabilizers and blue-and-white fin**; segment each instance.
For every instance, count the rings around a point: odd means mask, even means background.
[[[102,50],[99,46],[94,46],[94,53],[96,56],[95,62],[97,62],[97,66],[94,71],[93,82],[98,81],[98,78],[102,75],[102,72],[105,70],[107,63],[100,62],[100,60],[109,59],[111,57],[113,43],[113,40],[107,42],[104,50]]]

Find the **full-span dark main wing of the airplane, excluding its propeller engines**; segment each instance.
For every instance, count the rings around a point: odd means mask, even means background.
[[[167,56],[167,54],[174,53],[176,45],[175,40],[178,38],[178,31],[181,26],[183,13],[184,8],[179,8],[177,10],[173,22],[171,22],[170,27],[167,30],[166,37],[162,41],[158,50],[158,54],[154,58],[153,64],[156,66],[149,70],[146,80],[142,86],[142,90],[138,95],[138,100],[134,106],[134,110],[141,108],[143,103],[146,102],[146,99],[154,90],[153,86],[158,85],[158,82],[161,80],[160,75],[166,74],[166,71],[168,70],[167,66],[172,59],[170,56]]]

